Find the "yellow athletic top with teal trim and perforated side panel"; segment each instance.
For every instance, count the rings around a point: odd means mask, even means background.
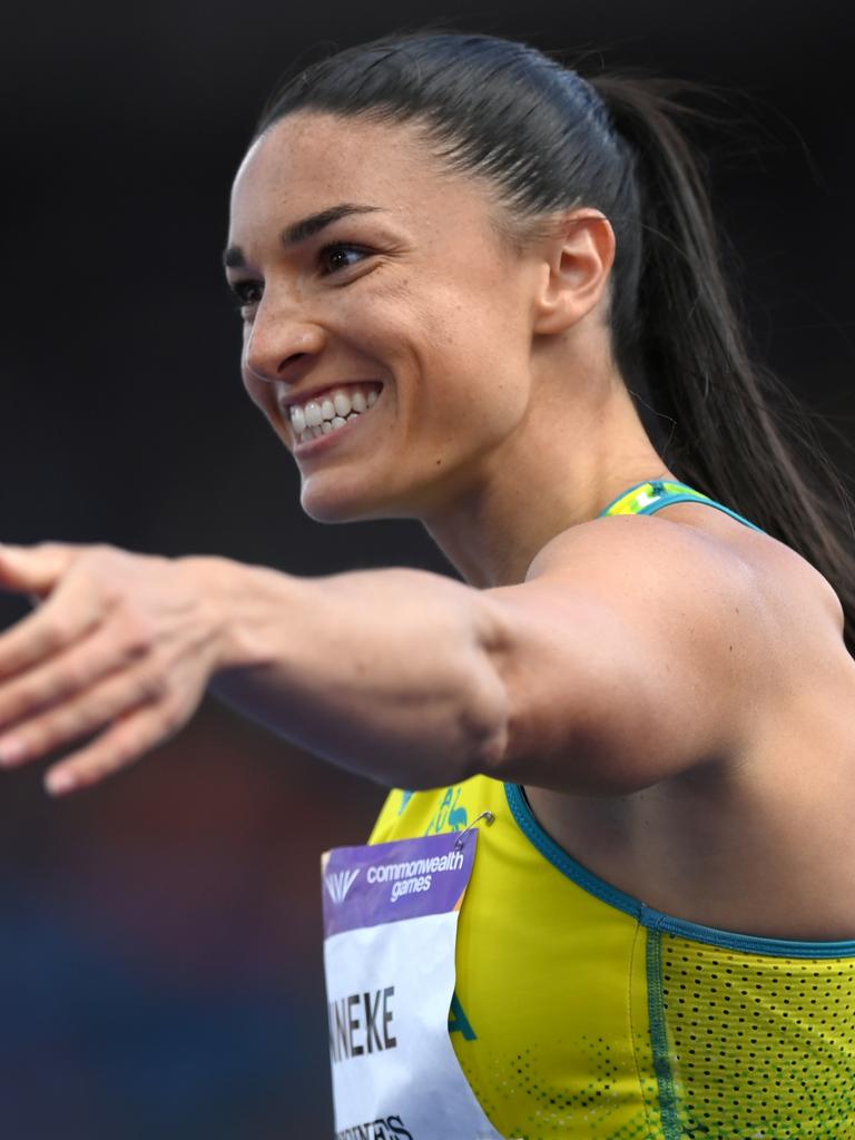
[[[754,526],[671,482],[633,487],[603,514],[681,502]],[[488,776],[392,791],[369,841],[473,824],[448,1028],[503,1137],[855,1137],[855,940],[752,937],[652,910],[563,850],[521,787]]]

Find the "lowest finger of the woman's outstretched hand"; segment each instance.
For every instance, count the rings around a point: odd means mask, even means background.
[[[180,714],[162,705],[147,705],[127,712],[85,748],[50,768],[46,789],[58,796],[119,772],[178,732],[192,711]]]

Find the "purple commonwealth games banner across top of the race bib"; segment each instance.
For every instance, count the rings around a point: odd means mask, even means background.
[[[478,831],[336,847],[323,860],[326,937],[458,907]]]

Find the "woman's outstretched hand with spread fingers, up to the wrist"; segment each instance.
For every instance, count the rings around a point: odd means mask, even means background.
[[[189,720],[221,642],[197,561],[112,546],[0,546],[0,588],[43,598],[0,635],[0,765],[92,738],[48,772],[48,790],[65,792]]]

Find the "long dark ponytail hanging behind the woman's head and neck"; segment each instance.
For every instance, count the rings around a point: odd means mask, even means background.
[[[636,303],[613,314],[618,366],[642,402],[646,381],[656,414],[670,421],[663,457],[671,470],[828,578],[855,653],[852,498],[796,398],[749,357],[703,173],[675,124],[697,114],[674,101],[685,85],[616,75],[589,82],[628,147],[640,198]]]

